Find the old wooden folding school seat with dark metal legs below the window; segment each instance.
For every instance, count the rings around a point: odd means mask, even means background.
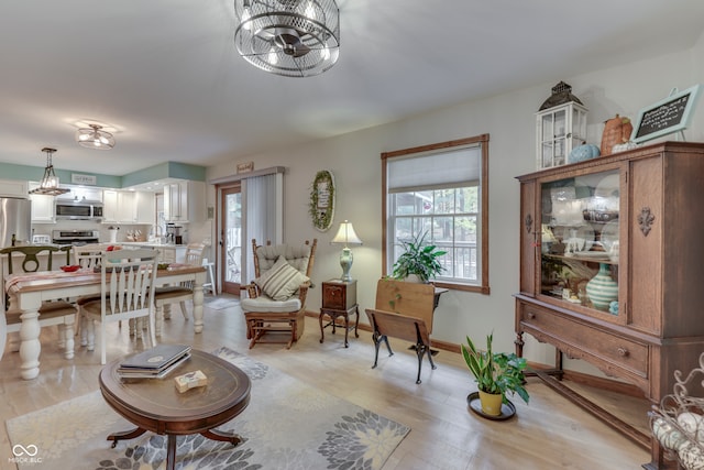
[[[418,376],[420,383],[420,368],[422,357],[428,356],[430,368],[436,369],[430,351],[430,332],[432,331],[432,315],[435,310],[435,286],[432,284],[417,284],[409,282],[380,280],[376,283],[376,308],[366,309],[366,316],[372,326],[374,341],[374,365],[378,362],[378,349],[382,342],[388,349],[388,356],[394,356],[388,343],[388,337],[410,341],[418,356]]]

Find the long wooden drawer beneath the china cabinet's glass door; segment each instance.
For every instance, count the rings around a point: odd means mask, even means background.
[[[646,343],[530,305],[525,305],[520,323],[531,335],[535,330],[538,339],[552,342],[548,338],[553,338],[556,346],[568,356],[586,354],[601,360],[602,365],[613,364],[637,375],[648,376]]]

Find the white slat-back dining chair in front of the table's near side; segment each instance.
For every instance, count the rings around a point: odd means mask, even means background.
[[[95,349],[96,323],[100,323],[100,363],[107,360],[106,326],[109,323],[147,319],[152,347],[154,335],[154,281],[158,252],[152,249],[118,250],[102,253],[100,259],[100,298],[82,305],[87,317],[88,350]],[[138,339],[143,337],[136,328]]]

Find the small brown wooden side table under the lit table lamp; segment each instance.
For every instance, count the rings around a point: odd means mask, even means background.
[[[354,321],[354,337],[359,338],[358,326],[360,325],[360,306],[356,303],[356,280],[341,281],[330,280],[322,283],[322,307],[320,307],[320,342],[324,340],[326,327],[332,326],[332,334],[336,328],[344,328],[344,347],[348,348],[348,334],[350,331],[350,314],[356,314]],[[322,325],[322,317],[330,317],[327,325]],[[337,323],[337,318],[342,317],[344,325]]]

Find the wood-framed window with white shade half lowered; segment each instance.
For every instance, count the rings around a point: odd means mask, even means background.
[[[435,282],[488,293],[488,135],[382,154],[385,272],[404,240],[447,251]]]

